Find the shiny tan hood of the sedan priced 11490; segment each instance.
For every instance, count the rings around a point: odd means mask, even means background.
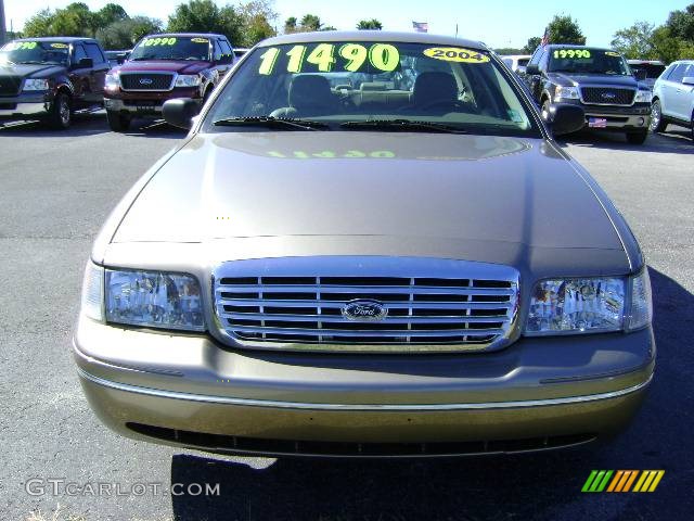
[[[371,254],[504,264],[549,249],[564,250],[562,262],[576,266],[581,256],[599,264],[603,251],[612,266],[628,269],[588,181],[570,157],[539,139],[198,135],[144,186],[111,247],[144,252],[151,243],[157,256],[164,243],[226,241],[235,243],[223,251],[228,257]]]

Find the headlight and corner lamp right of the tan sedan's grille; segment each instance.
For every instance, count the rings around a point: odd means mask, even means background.
[[[651,281],[634,277],[553,279],[538,282],[526,335],[632,331],[651,323]]]

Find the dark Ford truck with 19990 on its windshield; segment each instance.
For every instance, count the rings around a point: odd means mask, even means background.
[[[526,82],[543,115],[551,103],[573,103],[586,112],[586,127],[622,131],[633,144],[648,132],[652,93],[643,72],[634,77],[615,51],[584,46],[538,47],[526,67]]]

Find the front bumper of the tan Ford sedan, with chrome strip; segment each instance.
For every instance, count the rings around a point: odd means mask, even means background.
[[[129,437],[266,455],[433,456],[569,446],[622,430],[655,366],[651,329],[522,339],[461,355],[230,351],[80,319],[75,359]]]

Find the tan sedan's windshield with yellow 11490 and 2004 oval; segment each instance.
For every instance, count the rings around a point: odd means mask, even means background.
[[[277,122],[292,119],[323,130],[538,136],[506,75],[488,52],[462,47],[351,40],[261,47],[233,73],[202,128],[300,129]]]

